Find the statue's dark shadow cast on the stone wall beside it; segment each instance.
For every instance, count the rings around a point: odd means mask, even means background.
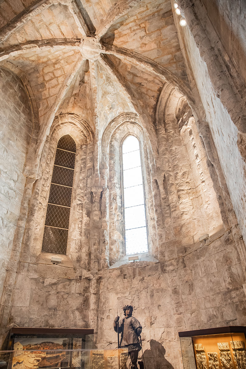
[[[140,352],[139,352],[140,354]],[[165,359],[166,350],[160,342],[150,339],[150,349],[143,352],[145,369],[174,369],[167,359]],[[139,359],[142,359],[139,355]]]

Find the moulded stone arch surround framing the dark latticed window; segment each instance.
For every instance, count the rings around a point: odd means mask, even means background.
[[[87,187],[87,171],[93,168],[94,134],[90,125],[75,114],[61,114],[55,117],[51,132],[46,139],[39,166],[39,180],[35,186],[31,200],[31,211],[27,221],[24,237],[24,247],[30,255],[50,262],[50,253],[42,252],[42,235],[44,234],[46,208],[49,199],[49,189],[52,181],[52,170],[59,140],[69,135],[76,145],[75,168],[73,176],[73,190],[71,194],[71,210],[69,215],[69,229],[67,234],[66,255],[60,255],[64,261],[79,262],[84,254],[88,255],[89,245],[83,242],[84,210],[81,199],[84,188]],[[91,168],[91,169],[90,169]],[[72,220],[72,221],[71,221]],[[33,227],[35,224],[35,227]],[[65,227],[62,227],[65,228]],[[27,239],[28,235],[28,239]],[[80,250],[80,252],[78,252]],[[86,258],[84,258],[86,262]]]

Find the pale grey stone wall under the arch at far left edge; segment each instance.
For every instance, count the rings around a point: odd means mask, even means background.
[[[20,77],[0,68],[0,294],[13,246],[26,178],[22,169],[32,133],[28,95]]]

